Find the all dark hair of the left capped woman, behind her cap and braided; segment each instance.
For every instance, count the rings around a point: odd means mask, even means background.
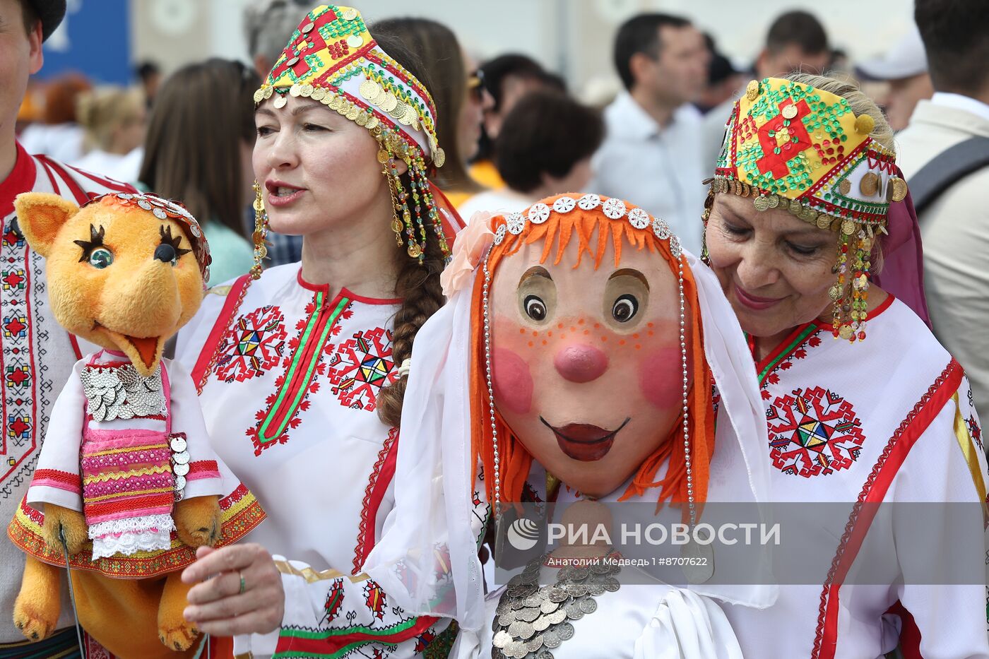
[[[415,76],[430,94],[434,94],[432,79],[429,72],[422,65],[422,60],[409,49],[413,44],[400,39],[394,33],[385,32],[379,34],[377,26],[372,27],[372,36],[393,59],[402,64],[405,70]],[[420,52],[416,50],[416,52]],[[458,61],[459,53],[458,53]],[[433,100],[437,104],[436,114],[439,122],[443,121],[443,110],[439,106],[439,100],[433,95]],[[442,126],[442,123],[440,124]],[[443,144],[442,133],[439,142]],[[453,159],[453,152],[447,156],[443,169],[450,166]],[[406,190],[411,189],[408,175],[403,175],[403,185]],[[382,228],[382,231],[390,231]],[[415,259],[409,258],[404,248],[396,249],[396,257],[399,260],[399,276],[395,282],[395,294],[402,298],[402,306],[395,314],[392,331],[392,360],[398,367],[402,365],[412,354],[412,341],[419,328],[443,306],[443,287],[439,283],[439,275],[443,271],[443,252],[440,250],[439,238],[428,231],[426,232],[426,248],[423,252],[424,258],[421,264]],[[378,393],[378,417],[384,424],[398,427],[402,424],[402,403],[405,399],[405,383],[407,378],[402,377],[388,387],[383,388]]]

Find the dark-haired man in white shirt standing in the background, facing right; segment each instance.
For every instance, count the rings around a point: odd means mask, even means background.
[[[709,57],[703,36],[679,17],[640,14],[618,29],[614,61],[625,91],[604,110],[589,186],[663,218],[694,253],[705,190],[701,115],[691,103],[707,83]]]

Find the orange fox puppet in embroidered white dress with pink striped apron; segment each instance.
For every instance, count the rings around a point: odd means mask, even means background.
[[[181,569],[196,547],[233,542],[263,518],[212,452],[191,377],[162,357],[203,299],[206,238],[184,207],[150,194],[79,208],[28,193],[15,208],[45,256],[58,323],[102,349],[58,396],[8,527],[28,554],[14,622],[31,639],[54,629],[67,562],[79,622],[107,650],[191,656]]]

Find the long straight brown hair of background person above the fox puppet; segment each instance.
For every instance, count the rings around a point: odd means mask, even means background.
[[[240,145],[253,144],[257,73],[213,58],[173,73],[155,95],[139,179],[200,221],[244,235]]]

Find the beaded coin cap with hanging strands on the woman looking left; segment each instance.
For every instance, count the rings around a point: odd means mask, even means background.
[[[399,245],[421,261],[428,223],[449,253],[426,173],[427,158],[436,167],[446,160],[436,141],[436,107],[422,83],[378,45],[359,11],[319,5],[303,18],[254,92],[254,105],[274,97],[275,108],[282,108],[288,96],[311,98],[368,129],[381,145],[378,159],[392,186]],[[408,166],[407,192],[396,158]],[[260,198],[255,210],[263,214],[258,206]]]

